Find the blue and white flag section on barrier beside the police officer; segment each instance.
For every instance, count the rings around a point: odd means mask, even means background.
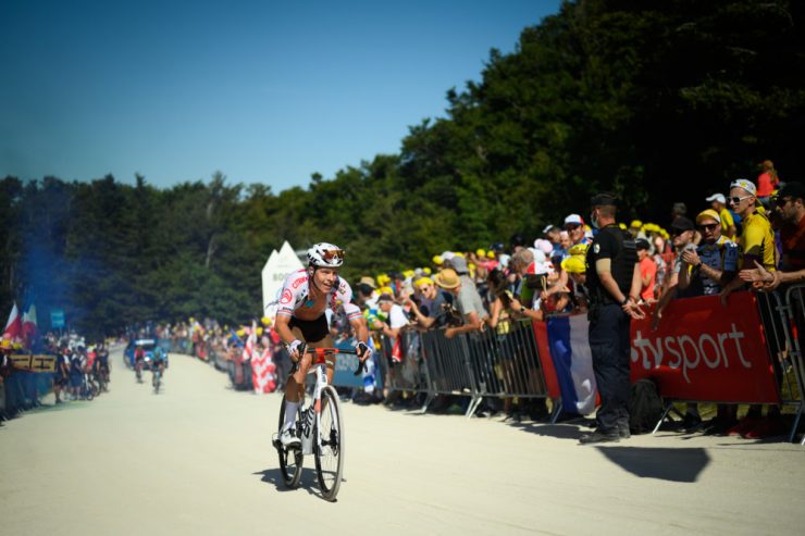
[[[562,409],[587,415],[595,411],[595,374],[586,315],[548,320],[548,342],[559,381]]]

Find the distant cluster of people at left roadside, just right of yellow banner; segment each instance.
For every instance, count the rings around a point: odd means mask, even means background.
[[[55,356],[55,403],[92,400],[109,390],[109,350],[103,342],[85,347],[63,346]]]

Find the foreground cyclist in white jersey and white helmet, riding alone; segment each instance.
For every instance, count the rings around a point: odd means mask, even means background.
[[[311,348],[333,347],[325,310],[330,308],[333,313],[343,310],[359,340],[356,349],[361,363],[372,354],[363,316],[358,306],[351,302],[352,289],[338,277],[342,264],[344,250],[332,244],[320,242],[308,250],[308,267],[293,272],[283,284],[276,312],[276,333],[290,359],[299,364],[285,385],[285,423],[280,435],[284,447],[298,447],[300,444],[293,427],[305,387],[305,375],[312,362],[309,353],[300,352],[305,345]],[[333,369],[327,366],[327,383],[332,381]]]

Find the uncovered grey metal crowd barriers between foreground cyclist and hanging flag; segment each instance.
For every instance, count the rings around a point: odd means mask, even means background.
[[[498,327],[451,339],[443,331],[403,331],[399,361],[393,359],[392,340],[382,337],[384,386],[424,392],[423,411],[438,395],[469,396],[468,417],[485,397],[547,398],[531,321]]]

